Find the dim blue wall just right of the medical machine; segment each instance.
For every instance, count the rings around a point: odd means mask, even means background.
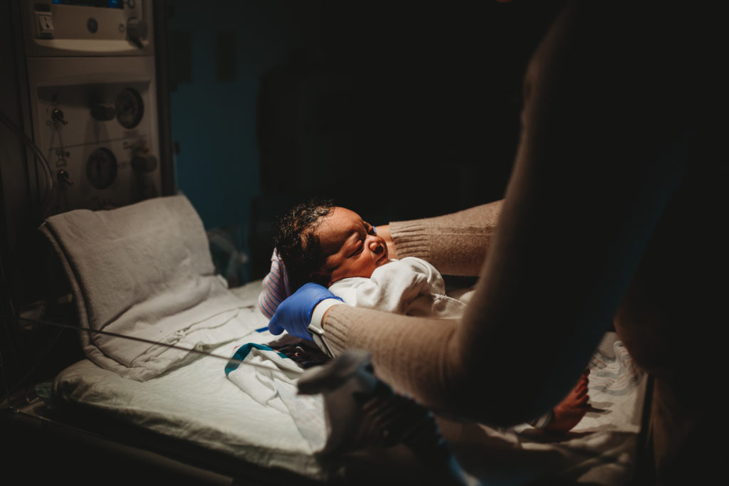
[[[316,40],[316,2],[168,0],[172,16],[171,63],[189,63],[189,79],[171,95],[176,185],[200,213],[206,229],[249,224],[252,198],[260,194],[256,96],[261,75],[284,63],[295,48]],[[306,4],[307,8],[302,5]],[[214,9],[205,9],[212,5]],[[311,12],[311,13],[310,13]],[[190,40],[176,44],[182,33]],[[217,39],[233,36],[232,80],[217,80]],[[314,47],[311,47],[314,48]],[[174,52],[184,50],[186,52]],[[170,66],[171,72],[181,66]],[[228,78],[230,79],[230,78]]]

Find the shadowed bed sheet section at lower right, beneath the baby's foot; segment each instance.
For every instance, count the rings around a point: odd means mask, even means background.
[[[647,375],[615,332],[590,361],[594,410],[566,434],[531,426],[491,428],[440,419],[443,435],[472,484],[605,485],[633,482]]]

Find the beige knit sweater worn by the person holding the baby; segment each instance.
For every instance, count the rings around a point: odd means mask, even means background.
[[[503,208],[390,224],[398,256],[480,275],[461,321],[335,305],[324,332],[429,407],[507,424],[563,398],[613,320],[654,378],[658,484],[712,484],[729,273],[725,83],[712,69],[725,43],[709,39],[720,16],[704,4],[631,7],[569,2],[547,31]]]

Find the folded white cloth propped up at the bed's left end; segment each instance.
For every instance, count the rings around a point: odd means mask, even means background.
[[[243,302],[215,274],[203,222],[187,197],[51,216],[41,231],[69,278],[88,358],[149,378],[249,332]],[[123,336],[139,338],[128,340]],[[160,344],[150,344],[149,341]],[[170,348],[165,345],[174,345]]]

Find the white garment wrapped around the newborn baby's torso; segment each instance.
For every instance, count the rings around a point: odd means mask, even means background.
[[[457,318],[466,304],[445,294],[445,282],[432,264],[415,256],[391,259],[370,278],[332,283],[332,294],[355,307],[432,318]]]

